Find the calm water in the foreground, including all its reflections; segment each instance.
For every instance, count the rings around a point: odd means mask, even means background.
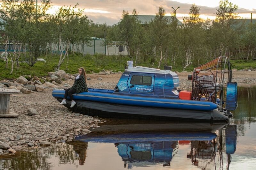
[[[255,169],[256,87],[238,95],[229,124],[111,119],[68,144],[0,157],[0,169]]]

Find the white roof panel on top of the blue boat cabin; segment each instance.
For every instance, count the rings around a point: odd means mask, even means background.
[[[140,72],[140,73],[171,74],[172,76],[177,75],[175,72],[170,70],[160,70],[160,69],[154,69],[154,68],[142,67],[142,66],[128,67],[127,69],[125,69],[125,71]]]

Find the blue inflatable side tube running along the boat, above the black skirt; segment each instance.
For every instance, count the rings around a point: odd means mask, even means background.
[[[111,90],[96,89],[97,92],[94,92],[93,90],[95,89],[89,89],[89,92],[73,94],[74,100],[88,100],[88,101],[115,103],[115,104],[122,104],[122,105],[163,107],[163,108],[204,110],[204,111],[210,111],[217,108],[217,105],[210,101],[137,97],[137,96],[113,94]],[[58,98],[64,98],[64,93],[65,93],[64,90],[54,90],[52,92],[52,96],[58,97]]]

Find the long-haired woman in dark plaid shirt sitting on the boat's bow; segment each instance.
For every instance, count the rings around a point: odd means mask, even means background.
[[[63,98],[62,102],[60,103],[61,105],[67,104],[66,99],[69,96],[71,99],[70,107],[74,107],[76,105],[76,102],[74,101],[72,94],[88,92],[88,87],[86,84],[86,73],[85,73],[84,68],[83,67],[79,68],[78,73],[79,74],[76,76],[74,85],[71,88],[66,89],[64,98]]]

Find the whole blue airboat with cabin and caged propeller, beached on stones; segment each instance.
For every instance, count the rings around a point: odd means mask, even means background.
[[[136,66],[133,61],[120,77],[115,89],[89,88],[88,92],[73,94],[73,112],[117,118],[228,121],[230,110],[237,107],[237,84],[232,82],[228,57],[218,57],[196,67],[188,75],[192,90],[180,90],[179,76],[171,66],[164,70]],[[53,90],[59,102],[64,90]]]

